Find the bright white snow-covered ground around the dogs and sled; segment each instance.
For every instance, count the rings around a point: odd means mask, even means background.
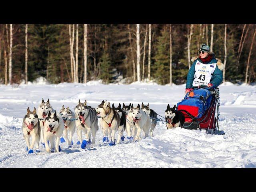
[[[42,98],[52,107],[74,109],[78,100],[96,107],[102,100],[147,104],[164,116],[167,104],[177,104],[184,97],[185,85],[159,86],[155,83],[103,85],[63,83],[22,84],[18,88],[0,85],[0,167],[256,167],[256,86],[222,84],[220,87],[220,130],[225,135],[207,135],[203,130],[175,128],[166,130],[161,122],[154,137],[137,143],[116,146],[102,144],[98,130],[94,146],[82,150],[74,144],[61,143],[61,152],[28,154],[22,135],[22,119],[28,107],[38,108]],[[125,134],[126,136],[126,134]],[[74,143],[77,135],[74,134]]]

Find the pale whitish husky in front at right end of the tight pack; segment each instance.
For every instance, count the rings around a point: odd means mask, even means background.
[[[132,128],[132,136],[134,136],[134,142],[138,142],[140,140],[141,130],[143,130],[146,138],[150,130],[150,123],[150,116],[142,111],[140,104],[138,104],[137,108],[134,108],[132,104],[126,118],[126,129],[128,131],[128,136],[129,130]]]

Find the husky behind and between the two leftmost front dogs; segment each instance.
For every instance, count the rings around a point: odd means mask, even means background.
[[[42,99],[42,102],[40,103],[40,105],[38,106],[38,109],[37,109],[37,115],[38,115],[38,119],[39,119],[39,122],[40,122],[40,127],[44,127],[44,122],[45,122],[45,118],[48,116],[48,113],[50,111],[52,111],[52,106],[49,102],[49,99],[47,100],[47,102],[44,102],[44,99]],[[44,144],[44,131],[42,130],[41,131],[41,134],[40,134],[40,138],[41,138],[41,143],[42,145],[45,147],[45,144]]]

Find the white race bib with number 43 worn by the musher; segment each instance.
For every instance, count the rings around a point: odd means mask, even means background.
[[[217,66],[217,63],[203,64],[200,61],[196,62],[193,86],[208,85],[212,78],[212,74]]]

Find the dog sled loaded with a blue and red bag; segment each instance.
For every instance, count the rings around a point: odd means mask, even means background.
[[[194,87],[177,104],[177,109],[185,116],[182,128],[190,130],[203,129],[206,130],[207,134],[224,135],[224,131],[220,131],[218,125],[219,106],[220,95],[218,88]],[[216,108],[217,118],[215,117]]]

